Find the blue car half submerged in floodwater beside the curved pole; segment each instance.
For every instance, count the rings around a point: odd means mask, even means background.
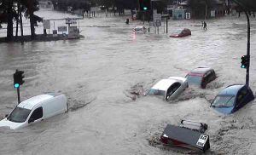
[[[248,102],[254,100],[253,91],[246,85],[235,84],[221,90],[211,106],[225,114],[236,112]]]

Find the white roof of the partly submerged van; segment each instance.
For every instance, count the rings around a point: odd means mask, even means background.
[[[54,97],[55,96],[53,96],[53,95],[37,95],[37,96],[33,96],[32,98],[22,101],[18,106],[32,110],[32,108],[34,106],[38,105],[38,103],[40,103],[44,100],[49,100],[50,98],[54,98]]]

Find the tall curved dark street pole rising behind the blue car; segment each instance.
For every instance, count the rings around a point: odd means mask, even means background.
[[[246,14],[247,16],[247,74],[246,74],[246,86],[249,87],[249,74],[250,74],[250,18],[249,15],[247,13],[247,10],[243,7],[243,5],[239,2],[237,2],[236,0],[232,0],[233,2],[235,2],[237,5],[239,5],[241,7],[241,9],[243,10],[243,12]]]

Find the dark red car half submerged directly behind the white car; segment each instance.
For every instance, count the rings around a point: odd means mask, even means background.
[[[216,77],[216,74],[212,68],[209,67],[198,67],[189,72],[186,75],[189,86],[197,85],[202,89],[207,87],[207,83],[211,83]]]

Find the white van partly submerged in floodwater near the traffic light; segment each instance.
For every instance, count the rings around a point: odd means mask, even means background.
[[[0,121],[0,127],[20,129],[64,112],[68,112],[65,95],[57,93],[37,95],[20,102],[7,118]]]

